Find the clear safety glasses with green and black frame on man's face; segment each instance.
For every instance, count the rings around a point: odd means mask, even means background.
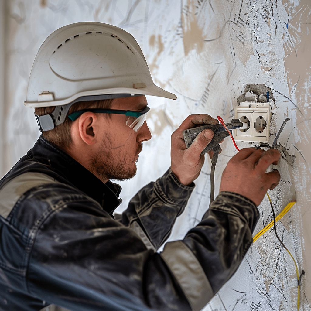
[[[146,114],[149,111],[149,109],[150,109],[149,107],[146,107],[142,111],[97,109],[97,108],[82,109],[82,110],[73,112],[72,114],[69,114],[68,118],[71,121],[75,121],[77,120],[77,118],[81,116],[81,114],[84,114],[87,111],[91,111],[91,112],[99,113],[99,114],[125,114],[128,117],[126,121],[126,125],[132,128],[135,132],[138,132],[146,120]]]

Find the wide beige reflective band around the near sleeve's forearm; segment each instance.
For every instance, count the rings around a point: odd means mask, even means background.
[[[160,255],[179,282],[191,309],[203,309],[214,294],[192,251],[182,241],[174,241],[166,243]]]

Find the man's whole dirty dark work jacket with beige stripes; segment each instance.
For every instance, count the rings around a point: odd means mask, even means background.
[[[121,187],[40,137],[0,182],[0,310],[199,311],[238,268],[259,213],[221,192],[156,253],[193,188],[169,169],[117,221]]]

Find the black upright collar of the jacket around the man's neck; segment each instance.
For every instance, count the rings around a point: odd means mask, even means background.
[[[54,173],[97,201],[110,215],[122,202],[122,199],[118,198],[121,186],[110,181],[103,183],[58,146],[48,142],[42,135],[33,148],[28,151],[27,156],[48,165]],[[55,174],[53,175],[55,176]]]

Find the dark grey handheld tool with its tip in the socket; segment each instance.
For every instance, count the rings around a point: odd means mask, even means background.
[[[243,124],[239,119],[232,119],[230,123],[226,123],[226,127],[230,130],[231,133],[233,129],[240,128],[242,126]],[[199,126],[197,128],[189,128],[188,130],[183,131],[183,138],[185,140],[187,149],[190,147],[190,145],[194,141],[194,138],[196,138],[198,134],[200,134],[202,131],[206,130],[207,128],[211,129],[214,132],[214,137],[211,140],[211,142],[206,146],[206,148],[201,152],[201,155],[212,150],[214,147],[216,147],[219,144],[219,142],[222,139],[229,136],[228,131],[225,129],[225,127],[222,124],[216,124],[216,125],[207,124],[207,125]]]

